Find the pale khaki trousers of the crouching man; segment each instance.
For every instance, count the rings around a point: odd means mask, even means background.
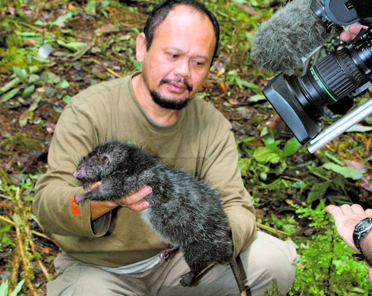
[[[292,241],[281,241],[262,231],[240,254],[247,278],[248,295],[262,295],[276,279],[285,295],[295,278],[296,249]],[[56,295],[239,295],[230,265],[218,264],[199,277],[194,286],[182,288],[180,276],[190,269],[181,252],[143,273],[114,274],[86,265],[62,252],[55,261],[57,278],[47,284],[47,296]]]

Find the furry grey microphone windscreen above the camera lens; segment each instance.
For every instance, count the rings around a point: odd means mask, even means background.
[[[294,0],[260,25],[251,57],[261,68],[292,74],[302,64],[301,57],[337,35],[334,26],[326,32],[310,4],[311,0]]]

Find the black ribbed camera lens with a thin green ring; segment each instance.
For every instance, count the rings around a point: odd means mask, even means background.
[[[353,93],[372,77],[372,25],[347,48],[325,56],[298,77],[280,73],[263,90],[301,144],[321,129],[324,106]]]

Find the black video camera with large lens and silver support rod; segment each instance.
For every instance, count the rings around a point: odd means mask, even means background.
[[[312,0],[311,9],[326,28],[351,25],[372,16],[372,2],[365,0]],[[321,130],[324,106],[344,97],[353,98],[371,86],[372,25],[360,30],[345,48],[326,55],[302,77],[280,73],[263,90],[266,99],[305,144]],[[314,138],[313,153],[372,113],[372,99],[335,122]]]

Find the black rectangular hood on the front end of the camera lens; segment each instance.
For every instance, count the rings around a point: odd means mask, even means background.
[[[298,142],[304,145],[320,132],[321,123],[304,111],[299,103],[304,100],[298,100],[298,96],[302,96],[301,90],[296,85],[290,86],[288,78],[284,73],[276,75],[267,83],[263,94]]]

